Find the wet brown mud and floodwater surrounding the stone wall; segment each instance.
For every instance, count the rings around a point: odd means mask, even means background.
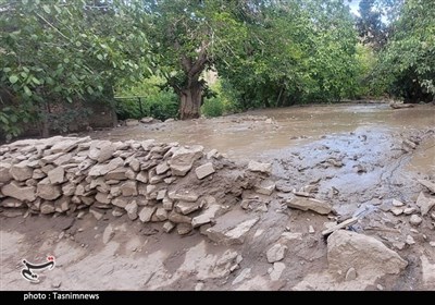
[[[417,225],[410,215],[393,212],[394,203],[417,209],[419,196],[434,197],[419,182],[435,181],[433,105],[294,107],[89,135],[201,144],[236,161],[272,162],[276,190],[252,194],[257,205],[228,213],[260,219],[241,245],[216,244],[198,231],[166,234],[126,216],[2,217],[1,290],[435,290],[435,211]],[[331,203],[336,216],[288,208],[295,192]],[[405,270],[353,280],[332,274],[322,231],[350,217],[359,219],[351,231],[397,252],[408,263]],[[277,242],[285,256],[271,264],[266,253]],[[49,255],[55,268],[42,271],[39,283],[22,278],[22,259]]]

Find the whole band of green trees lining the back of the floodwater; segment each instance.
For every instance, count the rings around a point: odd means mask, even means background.
[[[0,0],[0,127],[16,136],[34,121],[47,134],[140,84],[156,105],[173,90],[179,119],[213,96],[233,110],[433,100],[432,2],[361,0],[359,12],[347,0]]]

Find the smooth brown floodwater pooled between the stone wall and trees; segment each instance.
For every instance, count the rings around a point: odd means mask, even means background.
[[[326,136],[341,137],[368,131],[388,137],[391,132],[434,126],[433,105],[391,109],[387,103],[346,103],[261,109],[214,119],[140,124],[96,133],[94,137],[200,144],[207,150],[215,148],[233,159],[251,159],[279,154],[282,149],[322,141]],[[336,145],[346,143],[338,141]],[[428,166],[435,171],[435,144],[424,145],[424,149],[413,156],[410,168],[422,170]]]

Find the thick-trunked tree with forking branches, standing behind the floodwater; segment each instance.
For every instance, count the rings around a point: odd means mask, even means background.
[[[208,88],[201,74],[211,69],[228,47],[228,33],[236,34],[231,29],[236,25],[232,15],[234,4],[221,0],[148,3],[152,15],[149,32],[153,52],[159,54],[159,71],[179,96],[179,118],[199,118]]]

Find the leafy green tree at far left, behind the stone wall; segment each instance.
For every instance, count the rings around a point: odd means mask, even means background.
[[[0,0],[0,87],[14,97],[0,110],[5,133],[17,135],[20,120],[35,118],[47,136],[53,106],[112,102],[116,83],[147,71],[146,20],[124,2]]]

